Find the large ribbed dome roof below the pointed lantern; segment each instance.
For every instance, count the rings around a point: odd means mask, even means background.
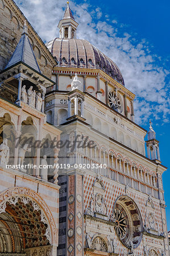
[[[87,40],[55,38],[48,42],[46,46],[56,57],[59,67],[101,69],[122,85],[125,85],[122,73],[113,60]]]

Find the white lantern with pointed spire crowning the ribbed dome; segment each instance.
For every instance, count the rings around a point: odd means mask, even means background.
[[[60,29],[60,38],[76,38],[76,30],[78,23],[74,20],[72,11],[67,2],[67,8],[65,9],[64,17],[60,20],[58,28]]]

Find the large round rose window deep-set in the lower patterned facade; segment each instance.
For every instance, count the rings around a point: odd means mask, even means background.
[[[118,198],[114,205],[115,231],[128,248],[136,248],[142,240],[141,216],[138,207],[127,196]]]

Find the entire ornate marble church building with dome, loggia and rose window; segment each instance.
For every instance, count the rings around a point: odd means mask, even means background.
[[[118,66],[69,3],[46,45],[13,0],[0,11],[0,254],[169,255],[167,168]]]

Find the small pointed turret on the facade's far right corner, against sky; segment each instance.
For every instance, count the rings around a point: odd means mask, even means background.
[[[148,141],[146,141],[147,145],[147,155],[151,160],[160,161],[159,154],[159,141],[156,139],[156,133],[152,127],[152,122],[150,120],[150,130],[148,131]]]

